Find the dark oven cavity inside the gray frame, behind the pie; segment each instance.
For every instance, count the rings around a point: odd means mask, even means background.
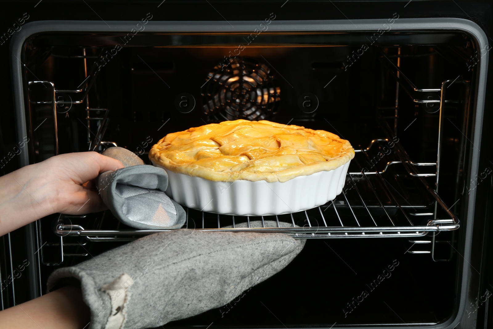
[[[32,36],[21,59],[30,162],[117,145],[149,163],[149,148],[166,134],[240,115],[221,104],[243,102],[248,93],[214,96],[234,89],[225,79],[245,61],[266,74],[263,88],[244,78],[256,93],[247,118],[333,132],[356,155],[333,202],[265,218],[295,223],[297,238],[308,238],[290,265],[232,303],[167,328],[406,326],[450,318],[464,239],[457,200],[468,186],[475,42],[448,30],[265,32],[240,51],[249,36],[142,32],[128,43],[118,33]],[[193,209],[187,215],[188,228],[252,220]],[[34,232],[37,293],[56,268],[142,234],[109,211],[48,216]],[[2,262],[15,258],[15,234]],[[11,286],[1,297],[4,305],[28,298]]]

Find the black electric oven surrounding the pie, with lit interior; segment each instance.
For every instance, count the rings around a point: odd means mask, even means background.
[[[110,146],[149,163],[166,134],[237,118],[327,130],[356,152],[335,200],[258,218],[185,208],[187,228],[284,221],[307,243],[241,298],[166,328],[487,328],[492,4],[465,3],[11,3],[0,170]],[[245,95],[221,93],[238,61],[267,76],[243,112],[225,104]],[[1,307],[150,233],[105,211],[6,234]]]

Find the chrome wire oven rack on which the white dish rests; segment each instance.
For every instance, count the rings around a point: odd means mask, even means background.
[[[436,173],[421,174],[409,170],[414,166],[436,164],[413,163],[409,166],[405,159],[395,158],[405,153],[394,151],[394,159],[383,163],[383,168],[374,171],[363,170],[363,162],[368,163],[371,159],[370,153],[381,149],[387,142],[389,139],[373,140],[368,147],[356,150],[343,192],[325,205],[294,214],[261,217],[218,215],[185,208],[187,219],[184,228],[206,231],[279,232],[292,235],[296,239],[418,237],[427,235],[428,232],[457,229],[458,219],[424,181],[424,177],[435,176]],[[354,171],[354,167],[359,168],[359,171]],[[405,172],[404,169],[408,171]],[[427,202],[409,203],[402,196],[404,192],[399,189],[398,184],[390,183],[395,177],[402,175],[405,176],[405,180],[415,183],[419,193],[427,193]],[[441,210],[439,216],[438,210]],[[75,221],[74,217],[69,218],[70,222]],[[257,220],[262,225],[252,227],[250,223]],[[276,221],[277,227],[265,227],[266,220]],[[289,223],[291,227],[281,227],[281,221]],[[248,227],[235,227],[239,222],[247,222]],[[224,228],[227,225],[232,227]],[[293,227],[294,225],[300,227]],[[168,230],[86,229],[82,224],[65,223],[63,220],[54,227],[54,232],[60,237],[85,237],[89,241],[129,241],[163,231]]]

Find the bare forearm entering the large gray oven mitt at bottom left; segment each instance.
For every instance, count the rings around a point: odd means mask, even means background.
[[[89,320],[80,289],[71,286],[0,312],[0,327],[11,329],[82,329]]]

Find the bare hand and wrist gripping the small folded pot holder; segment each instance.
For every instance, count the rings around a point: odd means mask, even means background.
[[[61,154],[0,177],[0,235],[54,213],[106,209],[93,189],[100,173],[123,168],[97,152]]]

